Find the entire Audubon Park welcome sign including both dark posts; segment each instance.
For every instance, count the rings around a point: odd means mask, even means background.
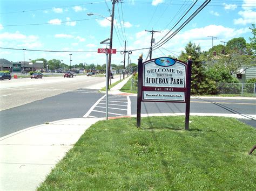
[[[187,63],[169,57],[143,62],[138,59],[137,127],[142,102],[186,103],[185,130],[189,129],[192,60]]]

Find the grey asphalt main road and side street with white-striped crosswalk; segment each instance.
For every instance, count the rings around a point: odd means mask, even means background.
[[[104,86],[104,77],[86,76],[1,81],[0,137],[60,119],[105,117],[105,94],[98,92]],[[250,119],[256,114],[255,106],[255,100],[192,98],[190,112],[240,114]],[[137,97],[110,95],[108,112],[109,117],[136,114]],[[176,112],[185,112],[185,104],[142,103],[142,114]],[[255,118],[242,122],[256,126]]]

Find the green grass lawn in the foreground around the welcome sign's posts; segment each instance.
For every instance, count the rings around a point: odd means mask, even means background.
[[[100,121],[39,190],[255,190],[256,129],[233,118],[184,116]]]

